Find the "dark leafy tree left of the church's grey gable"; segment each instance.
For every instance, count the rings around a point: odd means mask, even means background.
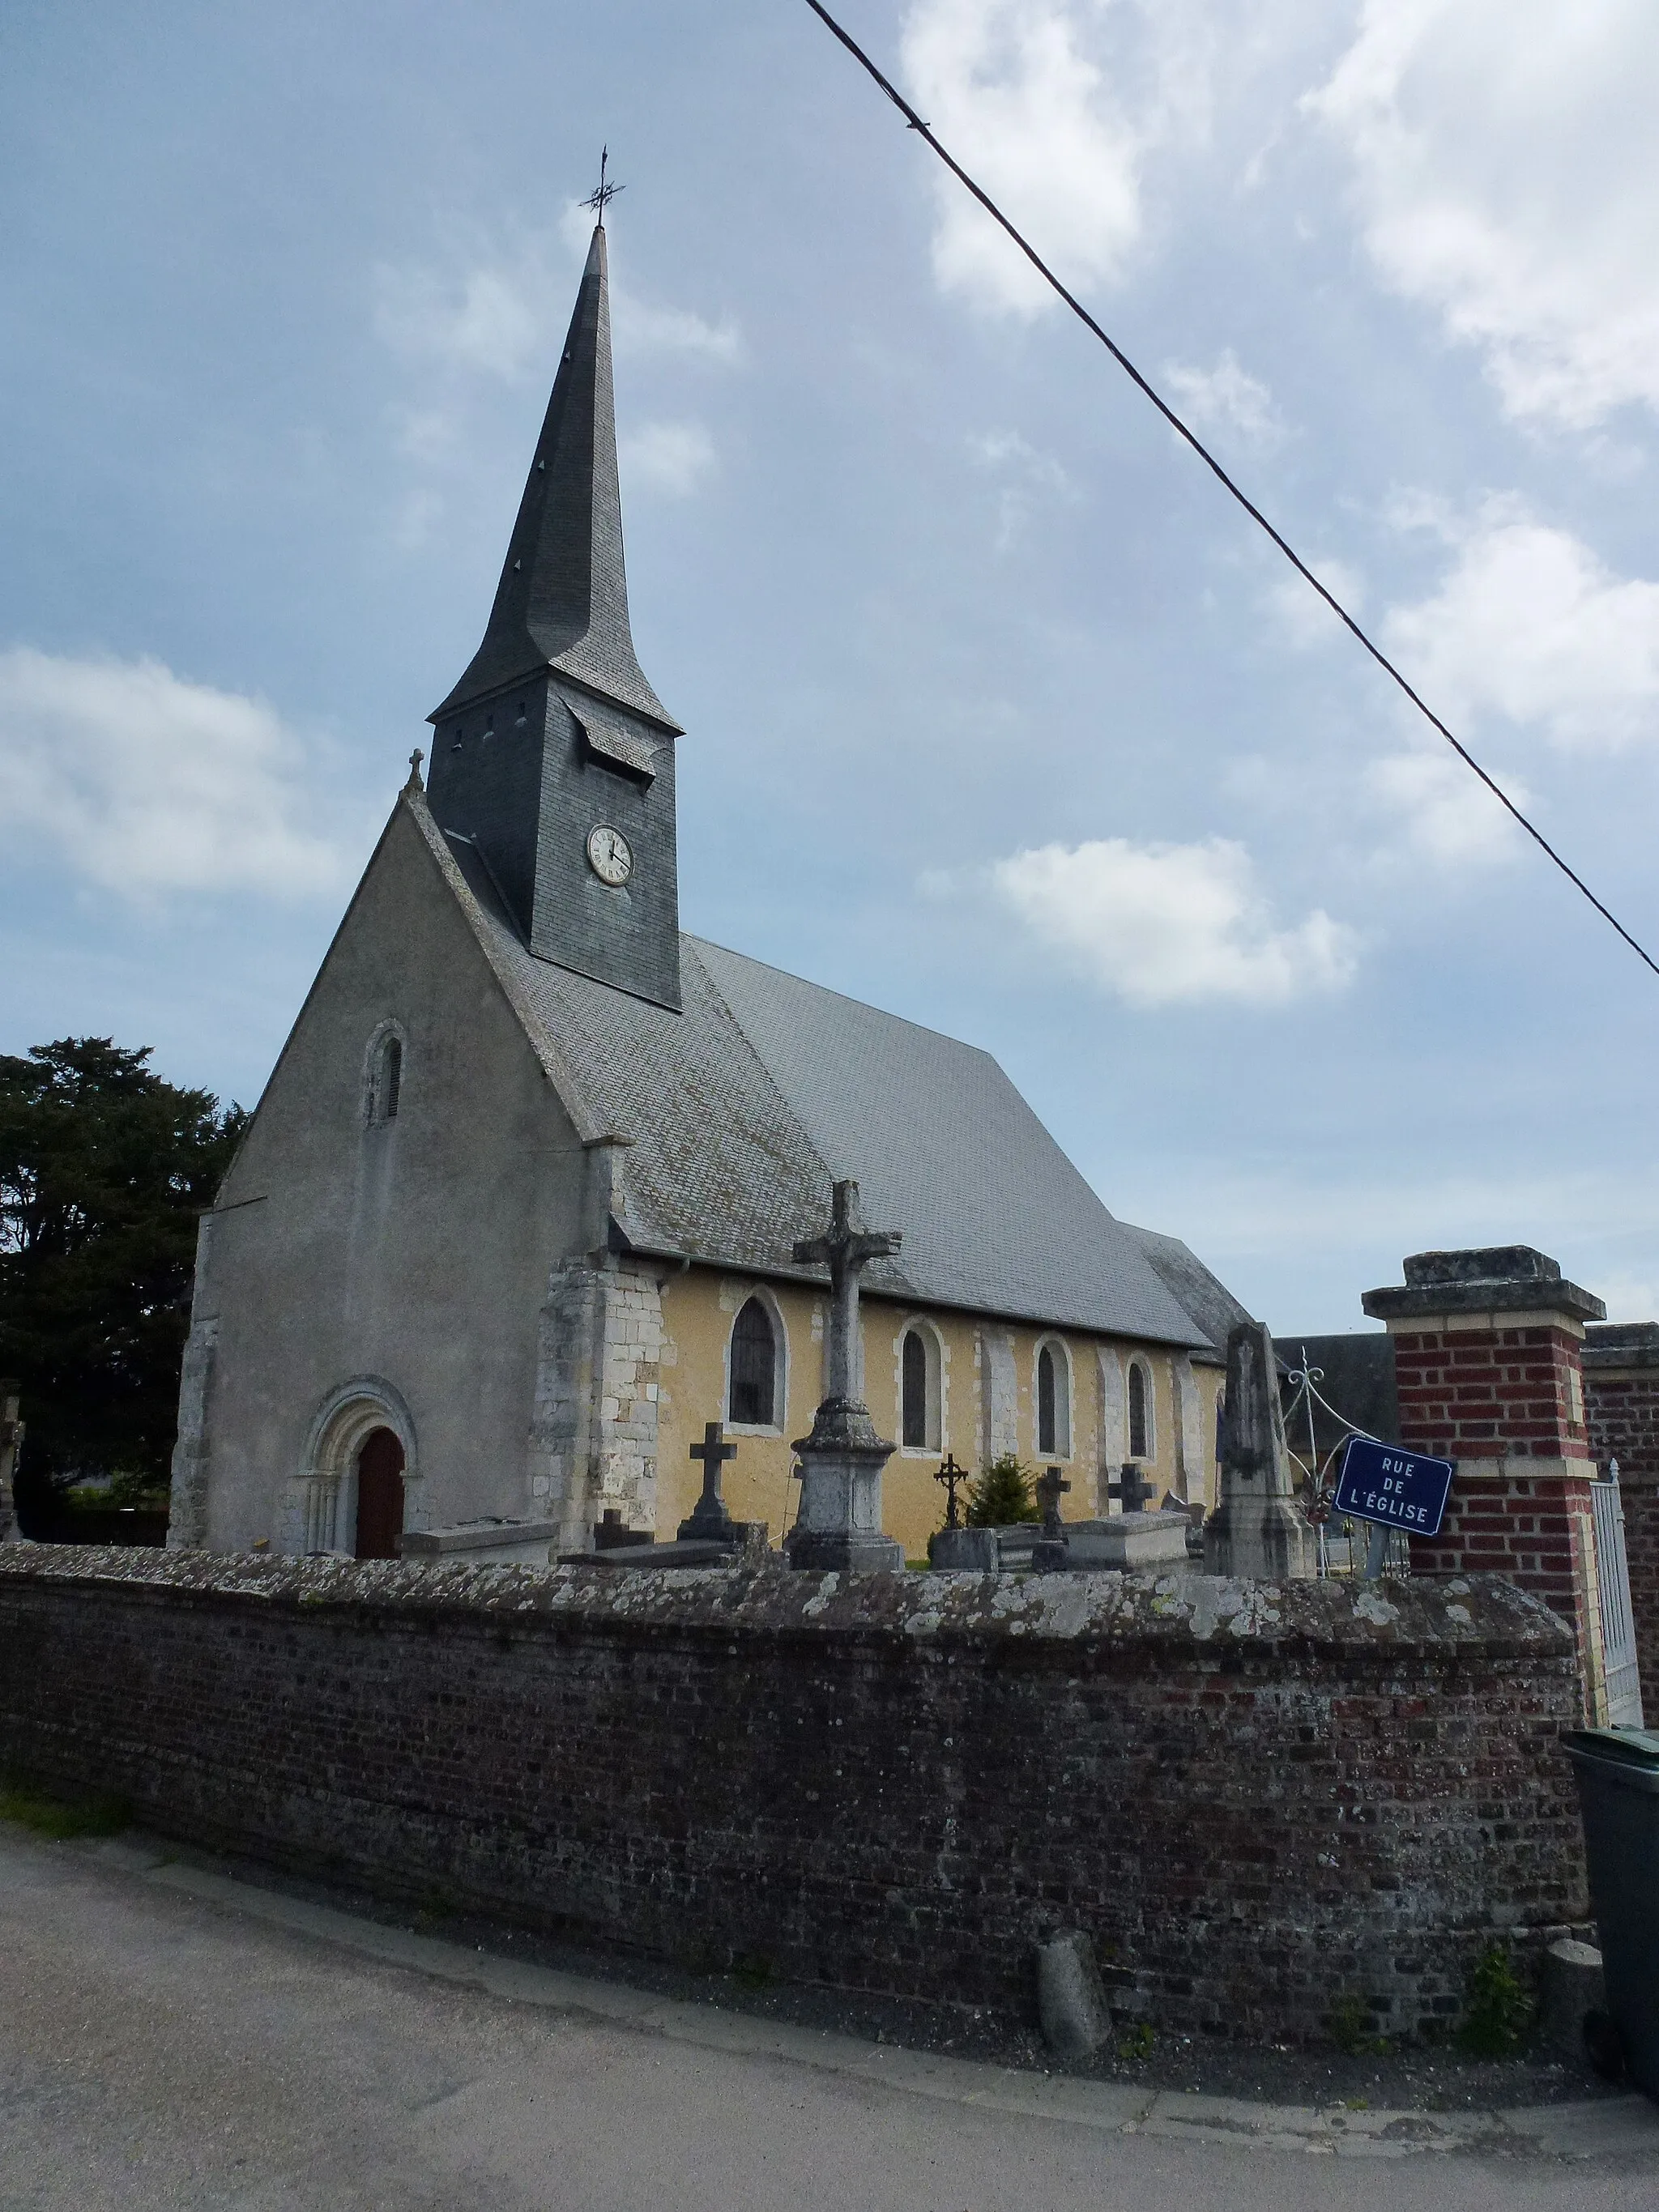
[[[22,1387],[20,1506],[82,1475],[166,1480],[197,1214],[248,1117],[148,1057],[111,1037],[0,1055],[0,1374]]]

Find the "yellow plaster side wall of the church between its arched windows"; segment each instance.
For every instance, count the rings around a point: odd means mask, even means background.
[[[726,1469],[726,1502],[737,1520],[768,1522],[776,1544],[794,1520],[796,1484],[790,1478],[790,1440],[805,1436],[812,1413],[823,1396],[823,1327],[827,1301],[823,1294],[796,1285],[757,1283],[748,1276],[728,1276],[708,1267],[690,1267],[664,1283],[664,1360],[659,1385],[659,1458],[657,1458],[657,1535],[672,1537],[679,1522],[690,1513],[703,1484],[701,1464],[690,1458],[690,1447],[701,1442],[703,1425],[721,1420],[726,1413],[726,1347],[732,1323],[743,1301],[759,1292],[781,1318],[787,1343],[785,1358],[785,1407],[783,1418],[765,1431],[745,1431],[728,1425],[728,1438],[737,1444],[737,1460]],[[958,1462],[978,1473],[984,1458],[984,1354],[987,1332],[1006,1334],[1013,1343],[1013,1369],[1018,1380],[1018,1438],[1020,1458],[1037,1464],[1037,1391],[1035,1365],[1037,1347],[1044,1338],[1055,1338],[1071,1354],[1073,1409],[1071,1409],[1071,1455],[1060,1460],[1071,1480],[1071,1495],[1064,1500],[1066,1520],[1095,1520],[1104,1511],[1115,1511],[1104,1495],[1106,1480],[1117,1478],[1124,1458],[1124,1440],[1113,1436],[1102,1447],[1102,1389],[1099,1389],[1099,1338],[1075,1336],[1060,1329],[1006,1327],[984,1323],[967,1314],[938,1307],[894,1305],[880,1298],[865,1298],[865,1400],[876,1429],[898,1438],[900,1420],[900,1343],[905,1327],[925,1318],[940,1338],[940,1413],[942,1451],[956,1453]],[[1175,1489],[1177,1475],[1177,1409],[1175,1374],[1170,1354],[1150,1345],[1115,1345],[1124,1367],[1128,1358],[1139,1358],[1152,1380],[1152,1444],[1155,1455],[1144,1464],[1146,1480],[1164,1491]],[[1208,1367],[1194,1369],[1201,1420],[1201,1478],[1206,1502],[1214,1500],[1214,1394],[1219,1374]],[[927,1537],[945,1520],[945,1491],[933,1480],[940,1464],[938,1451],[894,1451],[883,1478],[883,1524],[896,1535],[911,1559],[927,1555]],[[1190,1478],[1197,1495],[1197,1471]]]

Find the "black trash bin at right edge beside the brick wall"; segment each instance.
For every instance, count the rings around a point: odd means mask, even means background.
[[[1630,2079],[1659,2104],[1659,1734],[1579,1728],[1566,1750],[1584,1805],[1608,2011]]]

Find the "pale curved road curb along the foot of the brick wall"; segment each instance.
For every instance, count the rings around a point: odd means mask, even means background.
[[[113,1871],[204,1905],[509,2004],[580,2013],[703,2051],[785,2059],[911,2097],[936,2097],[942,2104],[1057,2119],[1108,2135],[1150,2135],[1336,2159],[1405,2159],[1453,2150],[1573,2161],[1639,2152],[1659,2157],[1659,2106],[1637,2095],[1524,2110],[1411,2112],[1252,2104],[1243,2097],[1206,2097],[1194,2090],[1148,2090],[1121,2081],[1035,2075],[1015,2066],[984,2066],[933,2051],[909,2051],[900,2044],[872,2044],[830,2028],[754,2020],[712,2004],[659,1997],[626,1982],[602,1982],[555,1966],[535,1966],[529,1960],[498,1958],[493,1951],[465,1949],[442,1936],[418,1936],[411,1929],[363,1920],[334,1905],[281,1896],[257,1882],[186,1865],[161,1847],[137,1840],[113,1838],[77,1849]]]

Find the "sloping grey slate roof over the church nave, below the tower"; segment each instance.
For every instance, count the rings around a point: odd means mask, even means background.
[[[553,967],[520,942],[478,852],[409,805],[577,1128],[628,1139],[617,1228],[635,1250],[816,1281],[792,1243],[854,1177],[865,1221],[905,1234],[872,1263],[872,1292],[1214,1343],[1148,1232],[1106,1212],[989,1053],[692,936],[684,1013]]]

